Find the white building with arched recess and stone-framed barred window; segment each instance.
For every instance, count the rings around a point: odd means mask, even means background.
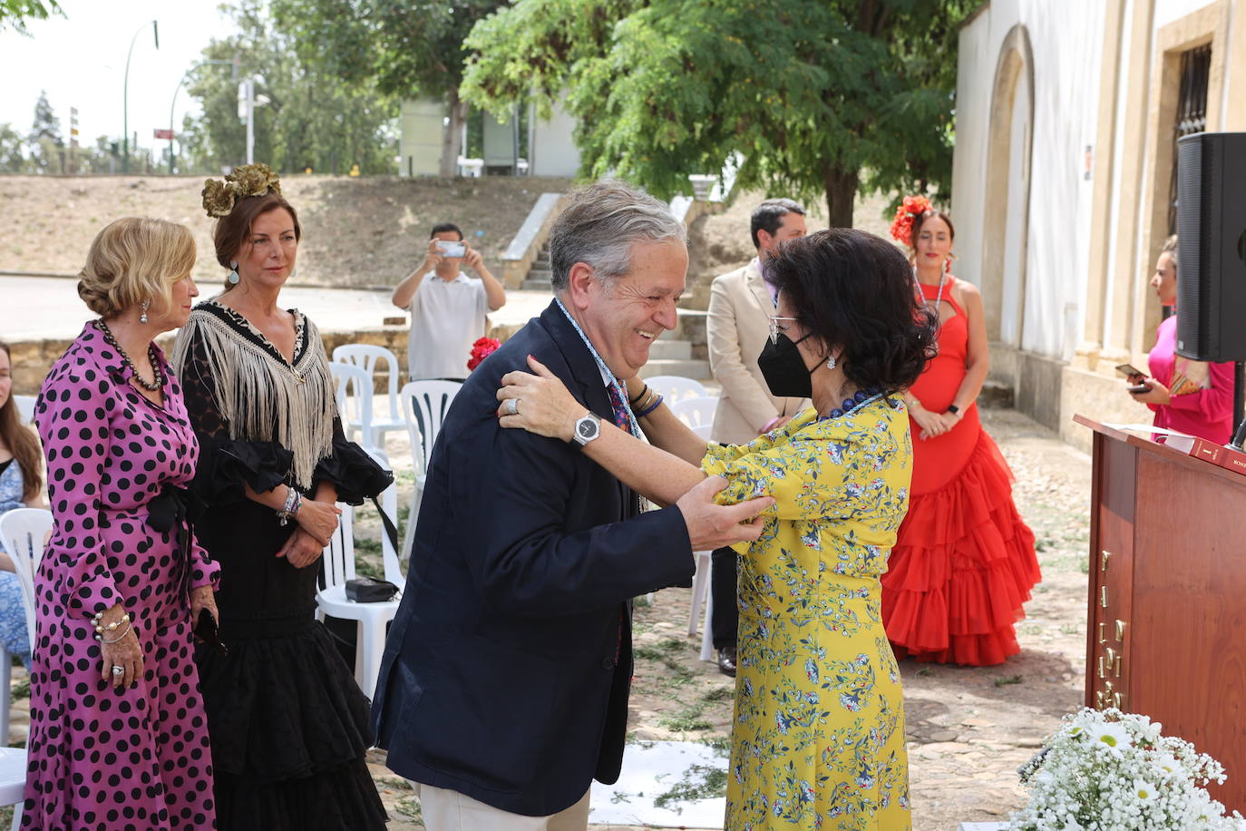
[[[1150,420],[1114,368],[1145,366],[1175,141],[1202,130],[1246,131],[1246,0],[991,0],[961,30],[956,273],[992,378],[1080,446],[1074,412]]]

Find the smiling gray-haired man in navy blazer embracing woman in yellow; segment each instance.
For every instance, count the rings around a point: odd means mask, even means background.
[[[694,551],[756,538],[740,522],[768,502],[715,506],[724,482],[706,480],[642,513],[577,444],[498,426],[501,378],[528,355],[593,414],[629,424],[625,387],[613,401],[612,387],[677,323],[684,229],[648,194],[578,192],[551,259],[556,300],[446,415],[373,703],[378,744],[417,782],[429,831],[587,827],[591,781],[617,781],[623,757],[630,598],[690,584]]]

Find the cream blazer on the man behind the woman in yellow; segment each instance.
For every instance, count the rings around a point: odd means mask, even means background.
[[[770,315],[776,314],[756,258],[744,268],[715,277],[709,290],[705,329],[709,366],[723,386],[710,435],[733,445],[756,439],[775,416],[791,416],[809,406],[809,399],[770,395],[761,378],[758,355],[770,335]]]

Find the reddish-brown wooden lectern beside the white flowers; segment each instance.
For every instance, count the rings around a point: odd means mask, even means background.
[[[1246,814],[1246,476],[1094,431],[1087,706],[1164,724],[1229,775]]]

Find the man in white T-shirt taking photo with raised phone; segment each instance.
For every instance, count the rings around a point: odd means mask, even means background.
[[[467,265],[478,277],[467,277]],[[394,305],[411,313],[410,380],[467,378],[471,346],[486,334],[485,316],[506,304],[506,289],[459,226],[432,227],[424,262],[394,289]]]

